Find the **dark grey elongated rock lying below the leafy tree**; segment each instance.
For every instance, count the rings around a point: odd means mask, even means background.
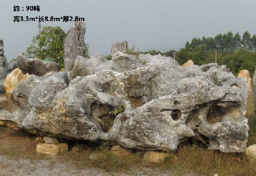
[[[48,72],[58,72],[60,66],[55,62],[44,62],[37,58],[27,58],[23,55],[17,56],[17,67],[23,73],[36,74],[44,76]]]

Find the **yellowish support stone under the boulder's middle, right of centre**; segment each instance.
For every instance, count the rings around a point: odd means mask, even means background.
[[[154,163],[160,163],[163,162],[165,158],[167,157],[175,157],[171,153],[164,153],[164,152],[146,152],[143,156],[143,160],[146,162],[154,162]]]

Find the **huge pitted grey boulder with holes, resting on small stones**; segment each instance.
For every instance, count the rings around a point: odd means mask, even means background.
[[[94,66],[84,65],[90,74],[70,82],[67,72],[30,75],[11,94],[9,118],[42,135],[126,148],[170,151],[196,138],[208,149],[244,152],[248,88],[226,66],[183,68],[170,57],[120,52],[112,61],[94,57],[85,61]]]

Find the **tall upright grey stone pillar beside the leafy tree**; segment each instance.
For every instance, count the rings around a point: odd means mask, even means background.
[[[86,34],[86,23],[75,21],[75,27],[70,28],[64,40],[64,65],[65,70],[70,71],[77,56],[86,55],[86,44],[84,35]]]

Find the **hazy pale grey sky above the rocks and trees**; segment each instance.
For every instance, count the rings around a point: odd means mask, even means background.
[[[13,6],[39,5],[40,12],[13,12]],[[110,54],[115,41],[140,50],[179,49],[193,37],[219,33],[256,34],[255,0],[1,0],[0,38],[8,60],[24,52],[37,34],[37,22],[13,22],[13,16],[80,16],[86,18],[91,55]],[[43,22],[68,31],[73,22]]]

